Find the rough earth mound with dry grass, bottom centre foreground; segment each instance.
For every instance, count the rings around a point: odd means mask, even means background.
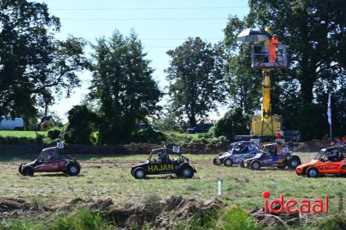
[[[177,223],[192,218],[203,225],[204,217],[215,217],[217,211],[224,207],[225,204],[217,199],[202,203],[181,196],[161,199],[151,195],[136,203],[128,203],[125,207],[111,209],[109,218],[117,222],[119,227],[130,229],[138,229],[144,224],[155,229],[174,229]]]

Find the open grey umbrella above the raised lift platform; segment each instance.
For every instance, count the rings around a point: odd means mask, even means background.
[[[272,37],[273,35],[262,28],[248,28],[240,32],[235,40],[251,43],[266,41]]]

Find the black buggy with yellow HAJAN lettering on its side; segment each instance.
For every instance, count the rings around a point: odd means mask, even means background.
[[[174,155],[178,159],[170,158]],[[174,153],[167,148],[153,149],[149,154],[147,162],[131,166],[131,175],[136,179],[143,179],[146,175],[170,173],[175,173],[178,178],[192,178],[197,171],[189,164],[187,157],[180,153]]]

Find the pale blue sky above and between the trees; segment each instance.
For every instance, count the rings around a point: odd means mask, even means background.
[[[216,43],[224,39],[224,28],[229,15],[244,17],[248,13],[246,0],[35,0],[46,3],[52,15],[60,17],[61,29],[57,39],[66,39],[69,35],[82,37],[91,43],[95,39],[110,37],[114,30],[129,35],[131,30],[142,41],[147,59],[155,69],[153,77],[158,86],[164,90],[167,86],[165,68],[170,58],[167,50],[183,44],[188,37],[201,37],[204,41]],[[86,55],[92,50],[86,48]],[[91,73],[79,73],[82,81],[80,88],[75,88],[68,99],[60,99],[50,108],[64,122],[66,112],[72,106],[80,104],[88,93]],[[164,97],[160,104],[167,103]],[[226,113],[227,108],[219,108],[219,114],[211,113],[217,119]]]

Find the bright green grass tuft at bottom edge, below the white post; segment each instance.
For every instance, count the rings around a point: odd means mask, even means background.
[[[255,230],[251,216],[241,207],[230,208],[221,215],[221,221],[215,229],[225,230]]]

